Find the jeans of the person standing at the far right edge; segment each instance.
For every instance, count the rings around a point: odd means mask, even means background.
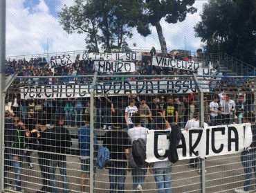
[[[256,154],[255,152],[242,151],[241,152],[241,164],[244,166],[244,191],[250,190],[252,184],[253,174],[255,174],[256,167]]]

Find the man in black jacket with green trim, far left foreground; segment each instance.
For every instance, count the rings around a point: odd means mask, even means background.
[[[21,122],[19,113],[15,113],[12,121],[8,122],[6,131],[7,148],[9,160],[12,163],[15,173],[15,191],[24,191],[21,189],[21,165],[24,158],[25,143],[30,140],[30,132]]]

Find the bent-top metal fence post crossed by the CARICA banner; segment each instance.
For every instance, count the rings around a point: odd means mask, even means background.
[[[199,122],[200,126],[204,127],[204,108],[203,108],[203,89],[200,86],[200,83],[198,81],[198,77],[196,77],[195,74],[193,74],[194,77],[194,83],[196,84],[196,89],[199,91],[199,102],[200,102],[200,112],[199,112]],[[205,158],[200,158],[200,178],[201,178],[201,193],[205,193]]]

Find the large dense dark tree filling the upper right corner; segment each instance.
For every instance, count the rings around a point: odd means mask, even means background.
[[[228,53],[255,63],[256,1],[210,0],[204,4],[201,21],[194,26],[207,52]]]

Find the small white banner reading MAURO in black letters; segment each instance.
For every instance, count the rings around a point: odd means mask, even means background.
[[[95,61],[94,66],[95,66],[95,71],[99,71],[99,72],[114,72],[114,73],[135,72],[135,64],[132,62]]]

